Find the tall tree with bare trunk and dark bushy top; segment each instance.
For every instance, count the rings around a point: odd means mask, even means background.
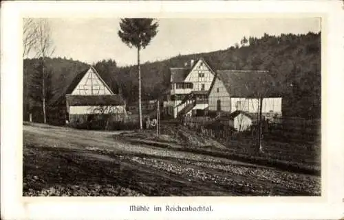
[[[157,33],[158,22],[154,19],[121,19],[120,21],[118,36],[128,47],[136,47],[138,50],[138,111],[140,129],[142,129],[140,50],[146,48]]]

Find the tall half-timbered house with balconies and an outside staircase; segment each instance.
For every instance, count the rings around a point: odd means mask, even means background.
[[[191,60],[189,66],[171,68],[170,71],[171,88],[167,101],[164,101],[166,114],[177,118],[194,109],[208,108],[208,90],[215,73],[204,59]]]

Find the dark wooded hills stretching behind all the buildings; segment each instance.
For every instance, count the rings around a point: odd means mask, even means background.
[[[144,51],[143,51],[144,52]],[[214,71],[219,69],[268,70],[283,91],[286,117],[319,119],[321,117],[321,34],[281,34],[261,38],[243,38],[240,43],[221,51],[180,55],[141,65],[142,98],[155,99],[169,88],[169,68],[182,67],[189,60],[204,58]],[[116,58],[114,58],[116,59]],[[40,108],[39,59],[24,60],[23,118]],[[76,74],[88,64],[65,58],[46,58],[47,103],[51,108]],[[117,66],[116,60],[94,64],[115,93],[122,93],[127,103],[138,99],[137,66]],[[33,111],[32,111],[33,112]],[[39,114],[39,112],[37,113]],[[49,110],[48,110],[49,114]]]

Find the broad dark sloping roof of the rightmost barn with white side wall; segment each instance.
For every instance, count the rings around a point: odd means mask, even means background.
[[[281,90],[268,71],[217,71],[209,93],[216,78],[222,81],[230,97],[281,97]]]

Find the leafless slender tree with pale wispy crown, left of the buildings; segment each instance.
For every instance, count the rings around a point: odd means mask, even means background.
[[[41,59],[41,74],[42,74],[42,108],[43,108],[43,120],[47,123],[46,112],[46,71],[45,71],[45,58],[51,56],[54,53],[54,46],[52,42],[52,36],[50,32],[50,24],[47,19],[37,19],[36,21],[36,38],[37,42],[34,47],[36,55]]]

